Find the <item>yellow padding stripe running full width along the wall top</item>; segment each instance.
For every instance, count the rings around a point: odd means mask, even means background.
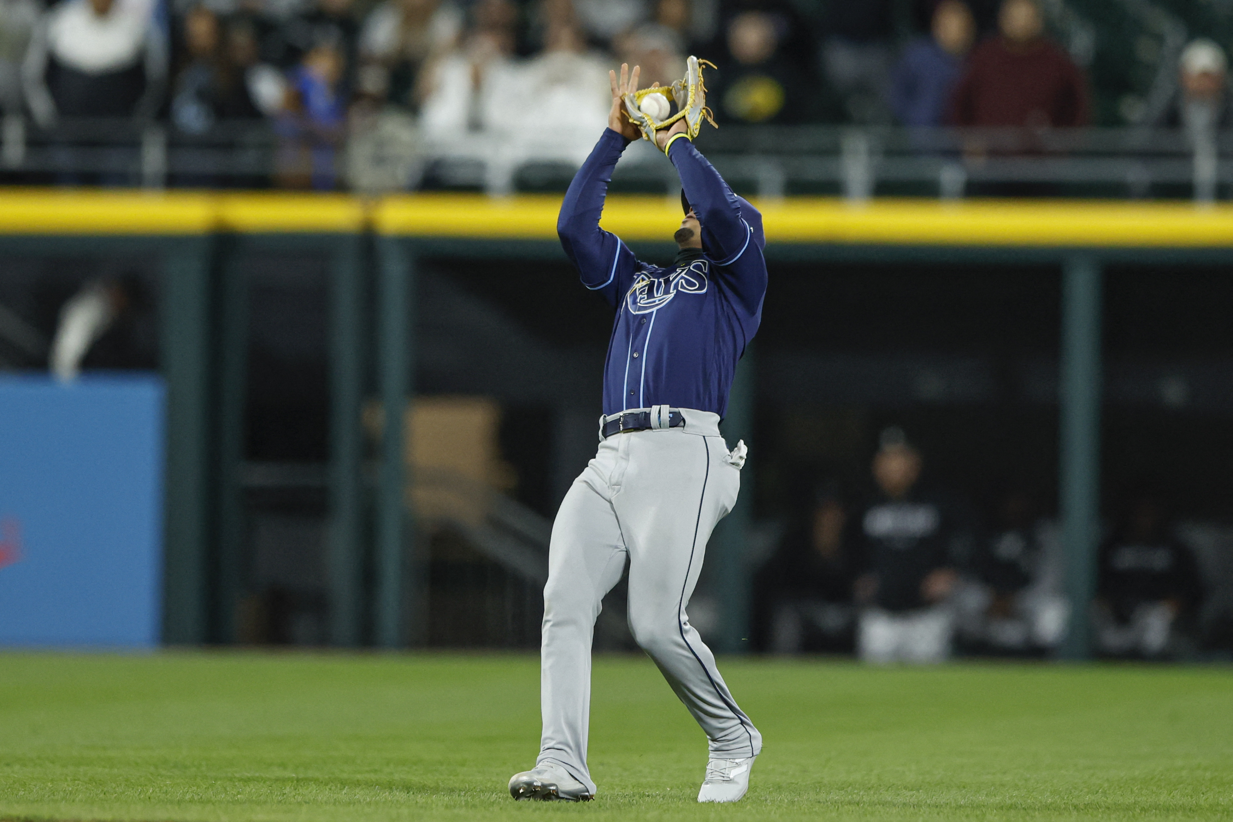
[[[358,232],[556,240],[560,195],[346,195],[0,190],[0,234]],[[938,246],[1233,248],[1233,206],[1185,202],[836,198],[758,203],[771,243]],[[677,200],[613,196],[603,226],[626,240],[670,242]]]

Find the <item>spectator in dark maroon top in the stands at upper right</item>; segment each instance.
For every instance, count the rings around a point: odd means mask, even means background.
[[[1037,0],[1004,0],[1000,35],[977,47],[951,101],[957,126],[1065,128],[1088,124],[1088,83],[1044,37]]]

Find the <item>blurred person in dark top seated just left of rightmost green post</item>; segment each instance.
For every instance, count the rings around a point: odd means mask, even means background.
[[[979,641],[1000,651],[1041,651],[1062,641],[1070,609],[1058,592],[1059,569],[1044,534],[1032,495],[1006,494],[995,529],[975,556],[975,571],[986,587]]]

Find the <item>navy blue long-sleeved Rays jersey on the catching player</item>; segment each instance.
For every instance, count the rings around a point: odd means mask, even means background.
[[[616,309],[604,364],[604,414],[672,405],[724,417],[736,362],[762,319],[762,216],[732,193],[688,139],[670,159],[702,223],[703,254],[662,269],[599,228],[613,168],[629,143],[604,131],[561,203],[556,230],[582,285]]]

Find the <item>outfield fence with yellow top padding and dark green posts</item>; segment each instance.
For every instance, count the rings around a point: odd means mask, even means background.
[[[197,643],[227,637],[234,603],[228,579],[239,557],[227,477],[239,461],[242,402],[237,377],[234,301],[228,260],[244,249],[312,250],[329,260],[330,317],[330,584],[332,640],[358,645],[366,608],[375,608],[376,642],[408,641],[408,592],[402,567],[413,529],[403,499],[401,426],[381,446],[376,511],[375,603],[365,603],[361,546],[360,405],[365,350],[375,349],[379,393],[399,405],[413,393],[417,259],[561,259],[555,222],[560,197],[111,192],[0,192],[0,248],[7,254],[92,256],[125,251],[162,260],[163,373],[168,385],[163,638]],[[1233,207],[1078,201],[789,198],[757,203],[764,214],[767,258],[816,261],[1033,260],[1063,276],[1060,511],[1071,557],[1075,603],[1094,587],[1097,535],[1100,320],[1102,264],[1233,262]],[[603,224],[635,249],[668,245],[679,206],[666,197],[616,197]],[[369,295],[375,311],[369,314]],[[371,329],[371,332],[369,330]],[[730,436],[751,425],[750,380],[739,380]],[[743,386],[743,387],[742,387]],[[740,649],[747,585],[741,568],[746,508],[716,535],[723,596],[732,604],[719,646]],[[232,511],[232,513],[229,513]],[[218,552],[212,546],[222,546]],[[412,605],[413,608],[413,605]],[[213,615],[213,616],[212,616]],[[221,616],[219,616],[221,615]],[[211,620],[218,622],[210,627]],[[413,638],[413,637],[412,637]],[[1074,632],[1067,653],[1088,656]]]

